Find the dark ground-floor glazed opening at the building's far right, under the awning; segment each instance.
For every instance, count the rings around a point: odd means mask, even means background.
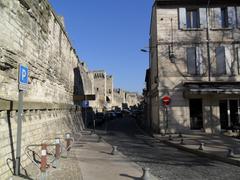
[[[240,100],[219,101],[221,129],[240,129]]]

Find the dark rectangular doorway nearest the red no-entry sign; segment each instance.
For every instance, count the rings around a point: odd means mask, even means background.
[[[192,130],[203,128],[202,99],[190,99],[190,125]]]

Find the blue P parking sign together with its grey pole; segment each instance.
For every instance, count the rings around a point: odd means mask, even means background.
[[[22,118],[23,118],[23,93],[27,90],[28,67],[22,64],[18,69],[18,120],[17,120],[17,145],[16,145],[16,165],[15,174],[20,175],[21,138],[22,138]]]

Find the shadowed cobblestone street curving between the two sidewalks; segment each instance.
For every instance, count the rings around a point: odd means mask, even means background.
[[[120,151],[141,167],[150,167],[153,175],[164,180],[238,180],[240,168],[179,151],[143,135],[132,119],[108,123],[108,135],[103,138],[117,145]]]

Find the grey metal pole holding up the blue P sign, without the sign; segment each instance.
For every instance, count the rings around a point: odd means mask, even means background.
[[[20,175],[21,137],[22,137],[22,117],[23,117],[23,91],[18,94],[18,121],[17,121],[17,146],[16,146],[16,166],[15,174]]]

